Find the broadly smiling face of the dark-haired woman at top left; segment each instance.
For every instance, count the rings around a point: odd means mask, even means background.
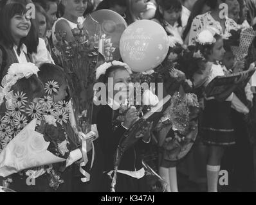
[[[10,30],[15,40],[26,37],[30,32],[30,28],[31,22],[30,19],[26,18],[26,13],[24,15],[16,14],[10,20]]]

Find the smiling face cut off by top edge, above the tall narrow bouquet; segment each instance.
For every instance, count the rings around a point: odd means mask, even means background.
[[[64,0],[65,12],[75,17],[82,17],[87,8],[87,0]]]

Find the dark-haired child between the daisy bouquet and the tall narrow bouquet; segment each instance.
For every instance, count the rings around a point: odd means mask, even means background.
[[[69,106],[69,121],[66,123],[66,129],[72,129],[71,126],[75,126],[75,118],[73,115],[73,111],[71,110],[71,103],[70,95],[68,92],[68,83],[67,78],[64,73],[64,70],[60,68],[57,65],[53,65],[50,63],[44,63],[40,67],[39,71],[39,78],[44,83],[48,83],[51,81],[55,81],[59,85],[58,92],[53,95],[53,101],[54,102],[64,102],[66,106]],[[68,103],[69,102],[69,103]],[[95,131],[95,130],[94,130]],[[70,139],[69,139],[70,141]],[[71,140],[74,145],[80,145],[80,142],[77,142],[77,139]],[[79,146],[80,147],[80,146]],[[80,163],[75,163],[71,167],[66,168],[66,170],[62,173],[62,178],[64,179],[64,184],[61,184],[57,192],[91,192],[92,190],[89,190],[92,184],[97,183],[98,176],[95,176],[95,173],[98,174],[98,170],[95,170],[98,168],[97,161],[98,161],[98,149],[97,144],[95,143],[95,164],[93,165],[93,168],[91,170],[91,179],[89,183],[82,183],[81,178],[84,177],[80,174],[80,171],[78,169],[80,168]],[[91,154],[91,142],[87,142],[87,153]],[[91,157],[88,156],[88,162],[87,165],[91,165]],[[88,167],[90,168],[90,167]],[[87,166],[86,166],[87,170]],[[95,172],[95,173],[94,173]],[[100,184],[100,183],[99,183]]]

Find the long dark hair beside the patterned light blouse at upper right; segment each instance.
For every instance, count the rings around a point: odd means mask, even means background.
[[[196,3],[194,4],[192,11],[190,13],[190,16],[188,18],[187,26],[186,26],[185,30],[183,31],[183,40],[186,39],[188,33],[190,32],[190,28],[192,26],[193,20],[197,17],[197,15],[203,14],[202,13],[203,6],[205,6],[206,3],[207,3],[207,0],[197,0]]]

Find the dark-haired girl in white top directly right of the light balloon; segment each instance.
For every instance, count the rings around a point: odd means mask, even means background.
[[[160,0],[153,20],[163,26],[172,43],[183,45],[181,10],[182,5],[179,0]]]

